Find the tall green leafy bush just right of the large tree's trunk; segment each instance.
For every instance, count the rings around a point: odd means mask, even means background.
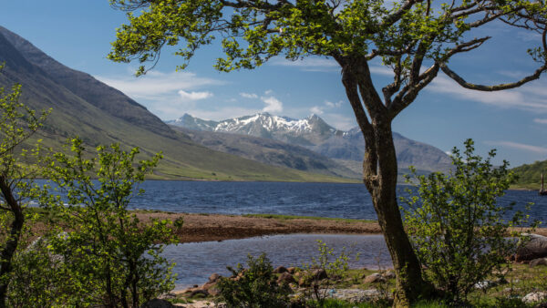
[[[491,272],[508,266],[517,241],[507,237],[519,236],[508,228],[527,221],[520,211],[505,221],[514,204],[496,202],[514,180],[509,163],[493,168],[495,150],[483,160],[473,154],[471,139],[465,147],[463,156],[459,149],[452,150],[449,175],[418,176],[418,190],[408,189],[411,197],[401,198],[408,204],[403,209],[405,223],[427,279],[456,303]]]

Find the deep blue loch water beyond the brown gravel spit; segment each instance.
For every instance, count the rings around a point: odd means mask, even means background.
[[[133,200],[134,209],[377,219],[363,184],[148,180],[141,188],[146,193]],[[406,195],[402,187],[398,192]],[[547,197],[535,191],[509,190],[499,203],[511,202],[520,210],[534,202],[532,218],[547,221]]]

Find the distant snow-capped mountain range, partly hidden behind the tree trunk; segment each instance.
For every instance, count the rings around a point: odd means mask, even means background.
[[[304,119],[276,117],[259,113],[241,118],[229,118],[219,122],[206,121],[184,115],[167,123],[184,128],[214,132],[229,132],[265,139],[275,139],[291,145],[304,146],[338,163],[352,167],[361,173],[362,167],[351,161],[362,161],[365,139],[358,128],[342,131],[329,126],[322,118],[312,115]],[[425,171],[446,171],[450,168],[449,156],[435,147],[394,133],[397,164],[400,169],[414,166]],[[348,160],[344,162],[344,160]]]

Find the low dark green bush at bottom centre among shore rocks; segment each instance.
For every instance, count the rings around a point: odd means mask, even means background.
[[[219,301],[229,307],[284,307],[289,303],[291,288],[277,284],[272,262],[265,253],[258,258],[248,255],[247,266],[228,267],[232,278],[222,277],[218,282]]]

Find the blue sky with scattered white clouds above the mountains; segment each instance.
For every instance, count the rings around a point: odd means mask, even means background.
[[[108,0],[6,1],[0,25],[25,37],[49,56],[108,83],[136,99],[162,119],[184,113],[223,119],[268,111],[304,118],[316,113],[335,128],[356,122],[340,82],[340,70],[327,58],[291,62],[274,58],[253,71],[219,73],[212,68],[221,56],[217,45],[207,46],[184,72],[175,72],[180,59],[173,49],[162,52],[160,63],[146,77],[133,77],[134,64],[106,59],[115,28],[124,13]],[[451,68],[471,82],[510,82],[536,68],[525,50],[540,36],[490,26],[476,36],[493,38],[480,50],[451,61]],[[391,77],[372,64],[377,87]],[[518,89],[483,93],[459,87],[439,74],[394,121],[394,130],[444,151],[472,138],[480,154],[498,149],[498,159],[511,166],[547,159],[547,74]]]

